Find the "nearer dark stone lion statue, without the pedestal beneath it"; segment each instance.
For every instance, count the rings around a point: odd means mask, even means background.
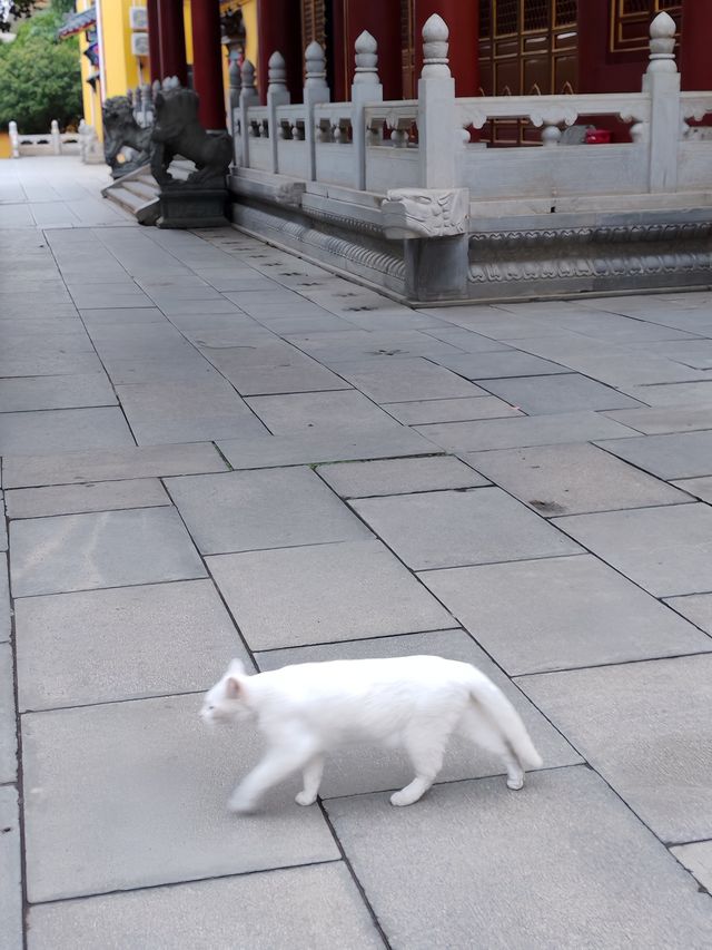
[[[177,155],[196,165],[185,184],[225,188],[233,160],[233,140],[227,133],[208,135],[198,121],[198,96],[192,89],[162,90],[154,101],[156,123],[151,135],[151,172],[159,185],[175,182],[168,167]]]

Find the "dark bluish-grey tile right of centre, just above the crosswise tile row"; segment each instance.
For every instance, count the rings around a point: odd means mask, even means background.
[[[506,399],[530,415],[578,412],[597,409],[626,409],[640,405],[630,395],[582,376],[566,373],[558,376],[520,376],[487,380],[485,389]],[[625,420],[622,420],[625,421]]]

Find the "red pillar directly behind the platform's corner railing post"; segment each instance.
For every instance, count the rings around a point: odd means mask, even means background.
[[[455,95],[476,96],[479,90],[478,0],[415,0],[416,81],[423,69],[423,25],[439,13],[449,29],[449,70],[455,77]]]

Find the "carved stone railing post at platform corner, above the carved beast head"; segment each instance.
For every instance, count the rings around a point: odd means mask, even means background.
[[[424,188],[456,185],[455,80],[447,60],[447,25],[437,13],[423,27],[423,72],[418,80],[419,180]]]

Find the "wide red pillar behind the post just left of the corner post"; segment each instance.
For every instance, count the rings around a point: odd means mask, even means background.
[[[403,96],[400,67],[400,0],[337,0],[334,17],[334,99],[350,98],[354,81],[354,43],[367,30],[378,43],[378,76],[384,99]]]

